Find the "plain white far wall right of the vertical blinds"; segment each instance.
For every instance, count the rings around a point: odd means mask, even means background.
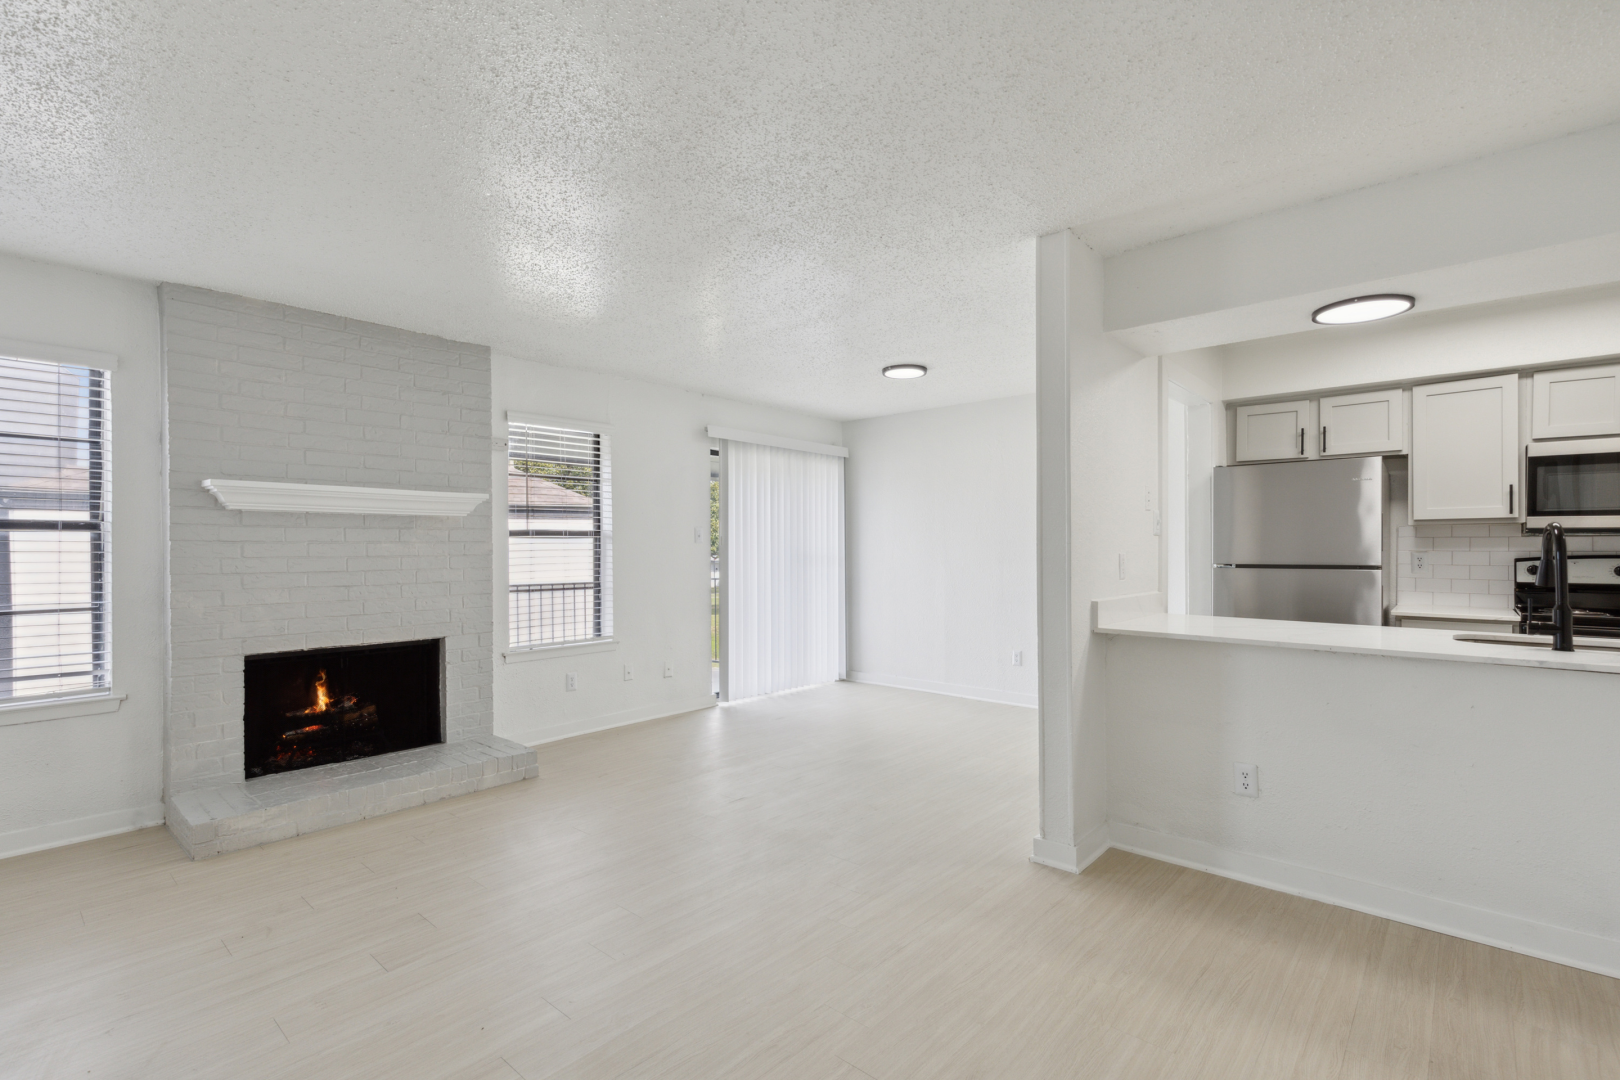
[[[847,423],[844,445],[850,680],[1035,704],[1035,397]]]

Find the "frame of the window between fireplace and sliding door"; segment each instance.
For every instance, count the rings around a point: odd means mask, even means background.
[[[501,525],[504,546],[505,546],[505,640],[507,640],[507,659],[535,659],[544,654],[554,654],[562,651],[595,651],[601,648],[612,648],[617,640],[612,636],[612,615],[614,615],[614,594],[612,594],[612,426],[596,421],[583,419],[567,419],[561,416],[536,416],[531,413],[509,411],[505,415],[505,437],[502,445],[505,449],[502,474],[505,478],[512,476],[512,442],[518,434],[515,427],[543,427],[549,431],[561,431],[570,434],[586,434],[593,439],[595,453],[595,470],[596,484],[591,494],[591,554],[593,554],[593,581],[591,581],[591,636],[588,638],[570,638],[567,641],[535,641],[535,643],[518,643],[515,638],[515,620],[512,615],[512,596],[520,586],[512,585],[512,538],[518,536],[580,536],[577,529],[559,529],[559,531],[535,531],[512,529],[512,507],[510,495],[507,495],[507,505],[504,510],[504,521]],[[507,479],[507,483],[510,483]],[[502,489],[509,491],[509,489]]]

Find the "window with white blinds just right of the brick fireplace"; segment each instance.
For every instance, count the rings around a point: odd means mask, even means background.
[[[606,434],[509,421],[507,617],[515,649],[612,636]]]

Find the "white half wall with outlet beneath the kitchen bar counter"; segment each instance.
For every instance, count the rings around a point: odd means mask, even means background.
[[[1115,638],[1115,844],[1620,975],[1617,680]],[[1234,761],[1260,797],[1231,793]]]

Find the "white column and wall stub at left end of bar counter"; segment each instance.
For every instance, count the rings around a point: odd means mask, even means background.
[[[1037,244],[1040,836],[1081,871],[1108,847],[1106,643],[1094,597],[1157,593],[1158,368],[1103,332],[1102,259],[1064,230]],[[1144,494],[1149,497],[1144,500]]]

